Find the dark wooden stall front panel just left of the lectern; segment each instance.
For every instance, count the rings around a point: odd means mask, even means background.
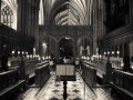
[[[49,80],[50,78],[50,69],[49,64],[45,63],[42,67],[35,69],[35,86],[37,87],[43,87],[43,84]]]

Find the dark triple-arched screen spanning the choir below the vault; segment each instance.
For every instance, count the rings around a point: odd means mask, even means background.
[[[92,27],[91,26],[40,26],[40,36],[41,37],[53,37],[57,41],[55,56],[59,61],[59,43],[62,38],[69,37],[73,41],[73,58],[78,57],[76,53],[76,42],[79,38],[85,38],[90,41],[91,54],[92,54]]]

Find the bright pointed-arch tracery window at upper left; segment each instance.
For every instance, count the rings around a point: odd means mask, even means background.
[[[1,22],[6,26],[12,27],[13,23],[13,12],[12,10],[6,6],[2,10],[1,10]]]

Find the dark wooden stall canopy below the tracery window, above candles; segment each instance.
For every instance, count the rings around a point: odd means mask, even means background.
[[[22,51],[31,54],[34,41],[34,37],[29,37],[0,23],[0,58],[3,56],[3,51],[8,57],[12,57],[12,51],[14,51],[13,57],[18,57],[18,51],[20,51],[20,57]]]

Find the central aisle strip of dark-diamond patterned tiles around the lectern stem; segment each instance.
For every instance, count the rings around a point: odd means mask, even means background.
[[[79,73],[76,73],[76,81],[68,81],[68,100],[84,100],[84,91],[85,98],[90,98],[90,100],[94,100],[94,93],[85,87],[84,82]],[[63,100],[63,82],[57,81],[55,76],[53,74],[47,86],[41,90],[38,94],[39,98],[43,98],[43,100]],[[39,99],[42,100],[42,99]]]

